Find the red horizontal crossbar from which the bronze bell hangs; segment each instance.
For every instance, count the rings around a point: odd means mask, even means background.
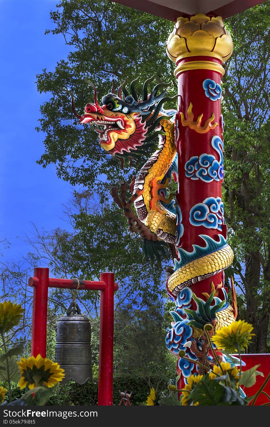
[[[79,280],[79,288],[78,289],[90,289],[93,291],[104,291],[105,282],[102,281],[90,281],[90,280]],[[28,280],[29,286],[38,286],[38,278],[30,277]],[[72,279],[57,279],[57,278],[49,278],[49,287],[50,288],[63,288],[63,289],[77,289],[78,283]],[[118,284],[114,283],[114,291],[117,291]]]

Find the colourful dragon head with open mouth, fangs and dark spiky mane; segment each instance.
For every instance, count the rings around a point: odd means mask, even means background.
[[[131,162],[132,158],[138,158],[138,154],[143,152],[139,147],[156,135],[162,134],[162,129],[158,129],[157,132],[156,128],[162,119],[170,118],[167,114],[162,115],[160,111],[163,103],[173,98],[164,97],[166,90],[157,95],[158,89],[168,86],[169,83],[156,85],[148,95],[147,85],[153,79],[154,76],[144,82],[141,100],[138,100],[135,91],[135,83],[138,81],[135,79],[130,83],[131,95],[128,94],[125,83],[122,83],[115,94],[115,84],[113,84],[112,93],[102,98],[101,105],[97,102],[97,89],[85,79],[94,89],[94,103],[86,104],[85,114],[82,116],[74,110],[71,94],[73,113],[79,118],[79,123],[94,125],[100,146],[121,161],[128,158]]]

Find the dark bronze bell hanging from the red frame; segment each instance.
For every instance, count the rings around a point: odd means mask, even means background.
[[[78,305],[73,302],[66,316],[60,317],[56,327],[55,361],[65,370],[65,378],[84,384],[92,378],[91,324],[82,316]]]

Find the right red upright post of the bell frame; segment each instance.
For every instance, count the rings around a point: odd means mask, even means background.
[[[106,283],[100,292],[100,355],[98,379],[98,406],[112,406],[113,339],[114,339],[114,274],[102,273]]]

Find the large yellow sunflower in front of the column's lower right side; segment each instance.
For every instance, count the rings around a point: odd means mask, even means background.
[[[229,326],[223,326],[212,336],[212,341],[218,349],[225,349],[228,353],[237,353],[238,349],[244,351],[250,343],[253,330],[252,325],[244,320],[233,322]]]

